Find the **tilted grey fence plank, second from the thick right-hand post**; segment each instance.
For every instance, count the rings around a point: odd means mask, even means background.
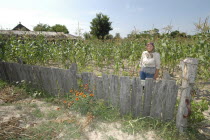
[[[165,99],[166,99],[166,93],[167,93],[167,81],[162,80],[161,82],[156,83],[155,87],[155,95],[154,95],[154,100],[152,102],[152,109],[150,116],[157,118],[157,119],[162,119],[163,117],[163,110],[165,107]]]

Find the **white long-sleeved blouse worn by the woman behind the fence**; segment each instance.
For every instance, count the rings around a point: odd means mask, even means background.
[[[160,54],[144,51],[141,55],[140,67],[156,67],[156,69],[160,69]]]

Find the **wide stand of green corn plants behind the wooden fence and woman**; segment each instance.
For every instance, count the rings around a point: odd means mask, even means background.
[[[156,51],[161,54],[162,69],[171,73],[186,57],[199,59],[199,78],[210,78],[210,37],[200,34],[191,38],[129,38],[120,40],[49,40],[43,36],[17,37],[0,36],[0,58],[17,62],[18,58],[27,64],[60,64],[69,68],[77,63],[79,69],[86,67],[111,68],[118,71],[132,69],[138,73],[138,63],[145,43],[155,42]]]

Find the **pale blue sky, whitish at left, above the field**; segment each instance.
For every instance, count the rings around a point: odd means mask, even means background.
[[[172,25],[172,30],[195,34],[194,23],[210,16],[210,0],[0,0],[0,29],[10,30],[19,22],[33,30],[39,23],[65,25],[70,34],[90,32],[97,13],[112,22],[113,36],[126,37]]]

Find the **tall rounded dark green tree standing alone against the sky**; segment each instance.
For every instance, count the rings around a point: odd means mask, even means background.
[[[109,34],[109,31],[113,30],[111,27],[112,22],[109,21],[109,17],[102,13],[96,14],[96,17],[90,24],[90,33],[98,39],[104,39],[104,37]]]

